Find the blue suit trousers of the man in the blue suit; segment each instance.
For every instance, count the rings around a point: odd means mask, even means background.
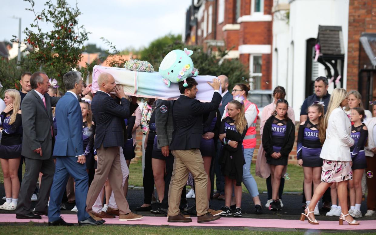
[[[50,205],[48,211],[49,222],[60,219],[60,203],[68,182],[69,175],[76,183],[76,206],[78,221],[86,220],[90,216],[86,212],[86,198],[88,196],[88,173],[86,164],[77,162],[74,156],[56,157],[56,170],[51,188]]]

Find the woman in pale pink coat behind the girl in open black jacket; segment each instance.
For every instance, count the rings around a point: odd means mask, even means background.
[[[285,96],[286,96],[286,91],[284,87],[277,86],[276,88],[274,88],[274,91],[273,91],[274,102],[265,106],[264,109],[262,110],[261,120],[260,120],[261,139],[262,139],[262,130],[264,129],[265,122],[266,120],[268,120],[268,118],[271,116],[273,111],[276,109],[277,100],[285,99]],[[293,121],[293,123],[295,124],[294,109],[291,106],[289,106],[287,109],[287,115],[291,119],[291,121]],[[285,167],[283,174],[285,174],[286,170],[287,170],[287,166]],[[264,151],[264,148],[262,147],[262,143],[260,144],[260,147],[257,153],[256,175],[258,177],[266,179],[266,186],[268,189],[268,201],[265,204],[265,207],[268,208],[270,202],[273,201],[271,199],[271,176],[270,176],[270,166],[266,163],[265,151]],[[281,183],[279,186],[279,201],[281,203],[281,207],[283,207],[281,199],[282,199],[282,192],[283,192],[284,185],[285,185],[285,179],[281,178]]]

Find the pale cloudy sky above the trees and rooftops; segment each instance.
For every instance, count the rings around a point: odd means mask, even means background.
[[[72,7],[75,0],[67,0]],[[35,0],[36,12],[43,9],[45,0]],[[130,46],[147,46],[152,40],[168,33],[181,34],[185,24],[185,12],[190,0],[78,0],[82,13],[79,25],[85,25],[89,34],[88,43],[105,48],[100,37],[105,37],[117,49]],[[23,0],[2,0],[0,15],[0,41],[11,40],[18,35],[18,20],[22,18],[21,29],[30,28],[35,16],[26,11],[30,4]],[[42,30],[48,26],[43,24]],[[46,30],[44,30],[46,29]],[[21,36],[25,38],[24,34]]]

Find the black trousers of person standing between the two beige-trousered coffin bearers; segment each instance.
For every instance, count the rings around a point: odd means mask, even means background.
[[[150,132],[149,135],[155,136],[155,132]],[[153,144],[154,141],[151,141],[148,136],[148,141],[145,150],[145,168],[144,168],[144,204],[151,204],[152,203],[152,194],[154,191],[154,176],[153,176],[153,168],[152,168],[152,154],[153,154]],[[150,140],[150,141],[149,141]]]

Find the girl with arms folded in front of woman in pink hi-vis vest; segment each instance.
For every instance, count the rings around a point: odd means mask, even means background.
[[[221,216],[230,216],[232,188],[235,191],[236,208],[234,217],[241,217],[241,182],[243,180],[243,165],[246,163],[243,155],[243,139],[248,126],[244,116],[244,104],[232,100],[227,105],[228,117],[223,118],[220,127],[220,139],[223,143],[221,150],[221,170],[224,175],[225,206]]]

